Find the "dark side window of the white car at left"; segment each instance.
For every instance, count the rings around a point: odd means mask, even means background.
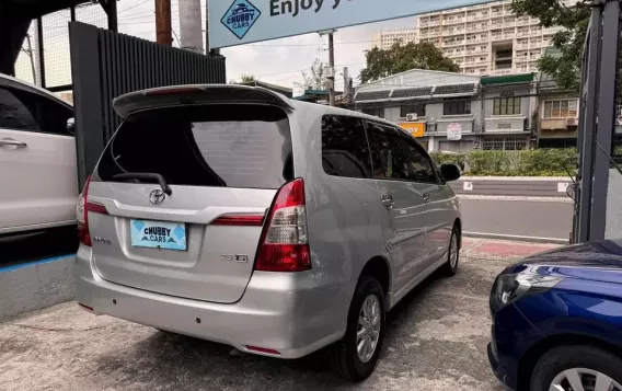
[[[45,96],[0,88],[0,127],[70,136],[67,119],[73,112]]]

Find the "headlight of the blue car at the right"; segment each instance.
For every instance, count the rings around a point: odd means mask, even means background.
[[[502,274],[497,277],[491,292],[491,309],[497,312],[525,295],[543,292],[553,288],[562,279],[562,277],[542,276],[530,271]]]

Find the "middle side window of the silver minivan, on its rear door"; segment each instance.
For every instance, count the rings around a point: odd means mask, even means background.
[[[377,123],[367,123],[367,129],[372,145],[373,177],[377,180],[407,181],[408,150],[406,140],[401,137],[400,130]]]

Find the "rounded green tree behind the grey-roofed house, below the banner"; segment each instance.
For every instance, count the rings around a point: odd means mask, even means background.
[[[459,72],[460,67],[445,57],[434,44],[396,43],[388,50],[378,47],[367,51],[367,68],[360,71],[360,81],[367,83],[411,69]]]

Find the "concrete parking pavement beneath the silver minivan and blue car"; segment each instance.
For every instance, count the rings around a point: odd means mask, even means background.
[[[360,384],[333,377],[322,354],[232,355],[70,302],[0,324],[0,389],[500,391],[485,350],[491,285],[508,264],[553,246],[465,238],[456,277],[433,276],[391,311],[382,358]]]

